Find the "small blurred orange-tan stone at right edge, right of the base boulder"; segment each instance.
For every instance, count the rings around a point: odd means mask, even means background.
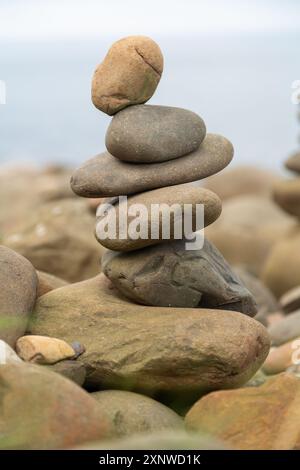
[[[297,352],[298,349],[298,352]],[[294,365],[295,360],[300,361],[300,337],[293,341],[271,348],[266,361],[263,364],[263,371],[268,375],[284,372],[288,367]]]

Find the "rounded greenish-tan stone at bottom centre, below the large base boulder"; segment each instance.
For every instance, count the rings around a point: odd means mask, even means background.
[[[183,427],[182,419],[152,398],[123,390],[92,393],[116,437]]]

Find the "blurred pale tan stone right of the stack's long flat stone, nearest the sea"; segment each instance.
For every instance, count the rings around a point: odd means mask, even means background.
[[[254,166],[226,168],[217,175],[203,180],[203,187],[221,198],[231,199],[242,195],[271,196],[272,187],[278,180],[276,173]]]

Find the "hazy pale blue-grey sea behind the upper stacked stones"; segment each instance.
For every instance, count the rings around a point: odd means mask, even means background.
[[[1,41],[0,163],[78,165],[104,150],[110,118],[90,100],[95,65],[116,37]],[[234,163],[280,169],[297,150],[300,32],[155,37],[165,70],[151,104],[202,116],[235,147]]]

